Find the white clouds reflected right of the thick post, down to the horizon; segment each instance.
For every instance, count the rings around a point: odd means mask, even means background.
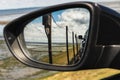
[[[54,16],[53,16],[54,17]],[[77,35],[84,36],[89,28],[90,13],[87,9],[73,8],[67,9],[58,15],[59,21],[53,21],[52,26],[54,31],[54,41],[64,41],[66,39],[66,26],[68,26],[69,42],[72,42],[72,32]],[[57,35],[56,35],[57,34]],[[57,39],[57,40],[56,40]]]

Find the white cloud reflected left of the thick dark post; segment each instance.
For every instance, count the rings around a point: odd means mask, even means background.
[[[44,26],[39,23],[29,23],[24,29],[24,35],[26,41],[47,42]]]

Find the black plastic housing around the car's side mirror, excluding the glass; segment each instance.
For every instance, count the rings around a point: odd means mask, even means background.
[[[52,64],[39,63],[26,55],[23,30],[26,24],[44,14],[68,9],[86,8],[90,11],[90,28],[85,36],[88,36],[82,58],[74,65],[56,66]],[[120,14],[91,2],[72,2],[46,7],[35,12],[24,15],[11,23],[4,29],[4,37],[11,53],[22,63],[47,70],[73,71],[80,69],[95,68],[117,68],[120,69]],[[84,39],[79,36],[80,39]],[[84,43],[84,42],[83,42]]]

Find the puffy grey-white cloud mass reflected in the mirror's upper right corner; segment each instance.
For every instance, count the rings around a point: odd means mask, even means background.
[[[65,10],[61,15],[58,15],[60,26],[68,26],[70,32],[84,35],[89,27],[90,13],[87,9],[73,8]]]

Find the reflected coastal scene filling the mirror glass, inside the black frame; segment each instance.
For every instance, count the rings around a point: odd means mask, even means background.
[[[89,22],[86,8],[59,10],[32,20],[24,29],[28,54],[40,63],[77,63],[84,53]]]

